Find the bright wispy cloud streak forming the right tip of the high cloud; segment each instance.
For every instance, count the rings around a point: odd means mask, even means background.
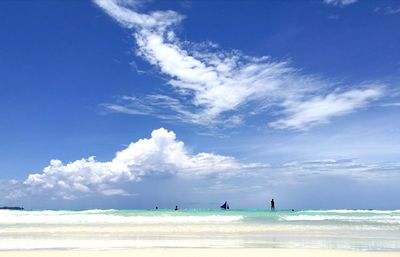
[[[378,87],[364,90],[350,90],[343,93],[330,93],[316,96],[307,101],[287,101],[287,117],[270,123],[275,128],[306,129],[315,124],[327,123],[334,116],[354,112],[367,105],[370,100],[379,98],[383,91]]]

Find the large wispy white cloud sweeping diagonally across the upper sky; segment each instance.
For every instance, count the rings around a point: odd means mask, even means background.
[[[354,0],[332,1],[348,5]],[[168,78],[168,94],[124,96],[103,106],[112,112],[152,115],[207,127],[238,126],[262,114],[275,129],[305,130],[361,110],[384,96],[381,83],[340,85],[304,74],[287,61],[225,51],[213,43],[180,41],[174,11],[136,11],[135,1],[95,0],[121,26],[133,31],[137,55]],[[268,111],[267,111],[268,110]],[[268,119],[267,119],[268,118]]]

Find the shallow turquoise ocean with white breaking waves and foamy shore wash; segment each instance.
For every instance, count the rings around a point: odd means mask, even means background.
[[[158,247],[400,251],[400,210],[0,210],[0,250]]]

